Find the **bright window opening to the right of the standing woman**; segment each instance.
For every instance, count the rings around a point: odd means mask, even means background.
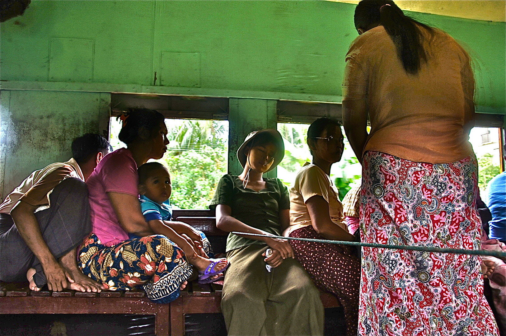
[[[486,197],[488,182],[501,172],[500,132],[499,128],[475,127],[469,134],[478,159],[478,187],[482,199]]]

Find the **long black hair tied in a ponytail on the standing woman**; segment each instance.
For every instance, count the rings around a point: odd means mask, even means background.
[[[430,35],[434,29],[404,15],[392,0],[362,0],[355,8],[354,20],[357,29],[369,30],[377,25],[385,28],[406,73],[416,75],[421,64],[427,63],[424,35],[417,25],[427,29]]]

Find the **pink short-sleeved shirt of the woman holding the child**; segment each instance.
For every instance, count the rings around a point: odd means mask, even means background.
[[[113,246],[129,239],[119,225],[108,192],[117,192],[138,197],[137,164],[131,152],[120,148],[107,154],[86,181],[90,199],[93,230],[100,242]]]

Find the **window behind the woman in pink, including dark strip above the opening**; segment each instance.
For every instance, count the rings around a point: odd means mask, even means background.
[[[112,94],[110,138],[114,149],[130,108],[149,108],[165,116],[168,151],[158,160],[171,172],[174,208],[206,209],[228,164],[228,98]]]

